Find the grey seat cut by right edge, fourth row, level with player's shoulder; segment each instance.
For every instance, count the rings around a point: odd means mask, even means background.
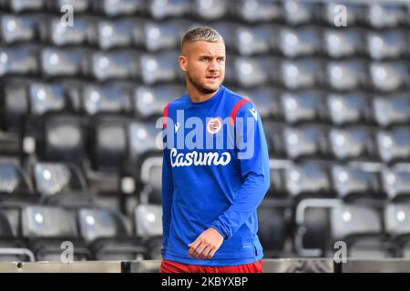
[[[373,98],[374,119],[379,125],[405,125],[410,123],[410,96],[406,93]]]

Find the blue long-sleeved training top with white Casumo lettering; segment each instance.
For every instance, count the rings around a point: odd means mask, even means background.
[[[261,259],[256,208],[269,188],[270,168],[251,101],[223,85],[201,103],[182,95],[164,109],[163,137],[163,259],[197,266]],[[224,237],[215,255],[188,256],[188,245],[209,227]]]

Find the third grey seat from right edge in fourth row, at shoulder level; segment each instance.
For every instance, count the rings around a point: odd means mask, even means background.
[[[282,111],[287,123],[326,120],[323,93],[318,91],[282,92]]]

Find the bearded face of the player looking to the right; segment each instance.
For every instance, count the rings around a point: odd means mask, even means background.
[[[217,91],[225,77],[225,45],[198,41],[184,46],[179,65],[190,84],[203,94]]]

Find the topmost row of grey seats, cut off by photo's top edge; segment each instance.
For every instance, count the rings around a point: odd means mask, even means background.
[[[403,1],[324,1],[306,0],[2,0],[0,7],[14,13],[47,11],[58,14],[63,5],[75,13],[115,16],[141,15],[155,20],[188,18],[212,21],[231,18],[253,23],[334,25],[337,5],[345,5],[349,25],[374,28],[409,25],[410,5]]]

